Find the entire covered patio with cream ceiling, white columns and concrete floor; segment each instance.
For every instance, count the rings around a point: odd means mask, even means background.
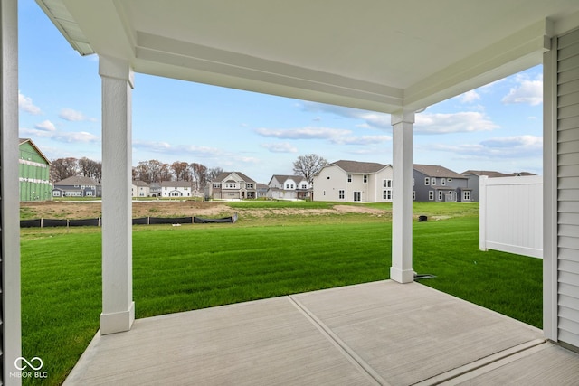
[[[579,378],[576,354],[559,346],[579,347],[579,2],[36,2],[75,50],[98,54],[102,79],[100,333],[70,384],[565,384]],[[17,198],[4,188],[18,167],[16,1],[3,1],[0,12],[3,381],[19,384],[6,375],[20,355],[21,333]],[[412,228],[415,114],[540,63],[542,333],[413,283]],[[392,280],[135,321],[136,71],[391,114]]]

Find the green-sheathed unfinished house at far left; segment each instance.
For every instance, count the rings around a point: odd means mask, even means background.
[[[20,138],[18,151],[20,201],[50,200],[52,198],[51,162],[30,138]]]

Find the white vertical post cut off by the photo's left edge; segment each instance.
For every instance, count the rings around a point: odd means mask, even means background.
[[[0,134],[0,383],[19,386],[21,372],[15,365],[22,355],[16,0],[0,1]]]

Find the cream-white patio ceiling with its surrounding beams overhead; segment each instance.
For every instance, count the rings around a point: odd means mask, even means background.
[[[395,112],[542,61],[576,0],[36,0],[134,71]]]

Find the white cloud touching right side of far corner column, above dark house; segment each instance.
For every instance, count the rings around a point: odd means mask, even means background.
[[[417,114],[414,124],[416,134],[448,134],[489,131],[498,125],[483,113],[465,111],[454,114]]]

